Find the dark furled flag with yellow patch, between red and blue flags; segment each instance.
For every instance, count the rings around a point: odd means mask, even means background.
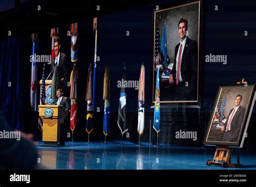
[[[87,115],[86,115],[86,132],[90,134],[93,130],[93,113],[92,113],[92,64],[88,68],[86,98],[87,100]]]

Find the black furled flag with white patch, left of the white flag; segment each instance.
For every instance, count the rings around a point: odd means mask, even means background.
[[[123,75],[122,75],[122,82],[125,81],[125,64],[123,67]],[[121,90],[120,90],[120,98],[119,98],[119,107],[118,107],[118,117],[117,117],[117,125],[123,134],[128,131],[127,126],[127,119],[126,119],[126,93],[125,93],[125,87],[122,84]]]

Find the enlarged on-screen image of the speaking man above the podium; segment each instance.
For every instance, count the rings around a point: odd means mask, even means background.
[[[60,38],[56,37],[54,40],[54,54],[55,57],[51,61],[51,72],[53,73],[53,67],[58,66],[60,70],[60,81],[61,81],[61,88],[64,89],[64,93],[68,94],[66,89],[66,84],[69,81],[68,75],[68,60],[66,55],[60,52]]]

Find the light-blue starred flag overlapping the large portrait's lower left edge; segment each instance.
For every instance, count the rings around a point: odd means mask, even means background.
[[[154,130],[160,132],[160,87],[159,87],[159,67],[156,76],[156,94],[154,96]]]

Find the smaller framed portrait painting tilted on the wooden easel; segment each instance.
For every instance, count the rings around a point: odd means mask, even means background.
[[[204,144],[242,147],[255,98],[255,84],[219,87]]]

